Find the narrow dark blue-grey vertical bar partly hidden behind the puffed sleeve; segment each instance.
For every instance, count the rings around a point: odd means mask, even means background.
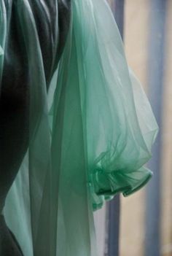
[[[125,0],[113,1],[112,9],[114,12],[114,17],[123,39]],[[120,195],[117,195],[112,201],[109,202],[108,211],[108,256],[118,256],[120,240]]]

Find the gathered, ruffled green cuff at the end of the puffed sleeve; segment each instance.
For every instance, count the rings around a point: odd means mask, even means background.
[[[152,175],[152,171],[146,167],[134,171],[95,169],[91,177],[93,209],[100,209],[104,201],[111,200],[117,193],[128,196],[140,190]]]

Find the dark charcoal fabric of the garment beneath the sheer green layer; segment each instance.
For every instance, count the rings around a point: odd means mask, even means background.
[[[17,2],[4,1],[8,28],[0,98],[0,213],[28,148],[28,57],[26,39],[20,33]],[[69,31],[70,1],[28,0],[28,4],[36,23],[48,90]],[[0,256],[22,255],[2,216],[0,227]]]

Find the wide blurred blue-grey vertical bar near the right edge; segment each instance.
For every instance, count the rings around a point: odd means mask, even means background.
[[[148,59],[149,99],[160,127],[160,132],[155,147],[153,147],[152,150],[153,158],[149,161],[149,168],[154,171],[154,176],[146,190],[145,256],[160,256],[160,166],[162,149],[161,130],[163,128],[162,110],[166,0],[151,0],[150,4]]]

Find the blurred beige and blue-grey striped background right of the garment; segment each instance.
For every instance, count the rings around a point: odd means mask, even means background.
[[[98,256],[172,256],[172,1],[107,1],[160,132],[149,184],[95,212]]]

